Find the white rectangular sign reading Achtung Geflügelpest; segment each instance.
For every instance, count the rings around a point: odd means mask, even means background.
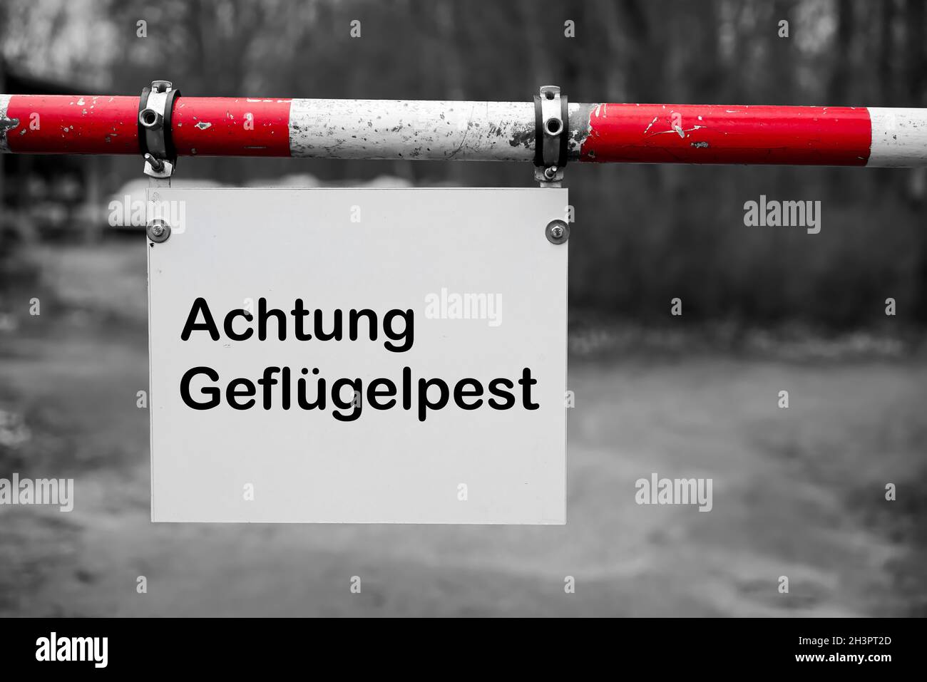
[[[565,523],[561,189],[170,189],[153,521]]]

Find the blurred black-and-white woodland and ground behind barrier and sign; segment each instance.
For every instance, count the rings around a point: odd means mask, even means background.
[[[528,100],[556,83],[573,102],[924,107],[925,12],[5,0],[0,93]],[[0,507],[2,615],[927,613],[922,169],[571,165],[567,524],[316,527],[148,522],[145,247],[108,221],[144,196],[140,159],[0,163],[0,477],[77,481],[69,514]],[[176,178],[533,184],[518,163],[289,158],[183,158]],[[820,234],[744,227],[760,195],[821,201]],[[638,507],[651,472],[713,478],[714,510]]]

